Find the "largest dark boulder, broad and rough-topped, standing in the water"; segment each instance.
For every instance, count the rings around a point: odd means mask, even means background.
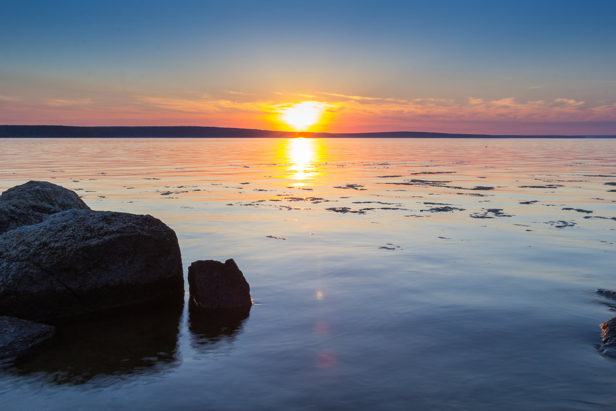
[[[68,210],[0,234],[0,315],[42,320],[183,294],[176,234],[149,215]]]

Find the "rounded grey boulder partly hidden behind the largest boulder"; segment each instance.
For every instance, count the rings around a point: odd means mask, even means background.
[[[46,181],[28,181],[0,195],[0,233],[38,224],[61,211],[90,210],[74,191]]]

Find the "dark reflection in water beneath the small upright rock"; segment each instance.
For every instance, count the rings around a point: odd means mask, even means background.
[[[188,330],[192,348],[205,354],[222,342],[231,342],[241,332],[251,307],[202,309],[188,301]]]

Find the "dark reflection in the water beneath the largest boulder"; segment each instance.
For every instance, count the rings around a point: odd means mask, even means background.
[[[96,385],[123,376],[159,373],[178,367],[179,323],[184,298],[164,304],[122,307],[54,324],[56,340],[11,367],[18,375],[41,376],[54,384]],[[113,376],[114,378],[105,378]]]

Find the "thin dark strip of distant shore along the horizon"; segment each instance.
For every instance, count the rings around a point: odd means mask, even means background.
[[[614,139],[606,136],[454,134],[445,132],[292,132],[204,126],[15,126],[0,125],[0,138],[389,138],[389,139]]]

